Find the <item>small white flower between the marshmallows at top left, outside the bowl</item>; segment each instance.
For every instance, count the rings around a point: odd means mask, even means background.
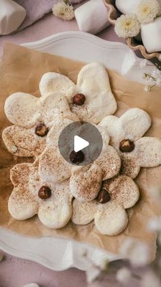
[[[60,1],[53,6],[53,14],[65,21],[72,20],[72,18],[74,18],[74,10],[72,5],[69,5],[63,1]]]

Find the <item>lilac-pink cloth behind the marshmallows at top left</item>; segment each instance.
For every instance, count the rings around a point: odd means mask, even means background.
[[[14,32],[23,30],[24,28],[32,25],[35,21],[38,21],[45,14],[52,10],[54,3],[59,2],[59,0],[15,0],[18,4],[23,6],[27,11],[27,16],[23,23]],[[69,0],[70,4],[80,3],[83,0]]]

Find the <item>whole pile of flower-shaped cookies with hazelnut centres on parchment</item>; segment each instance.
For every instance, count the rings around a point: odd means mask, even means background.
[[[16,92],[5,101],[13,124],[3,130],[5,147],[13,155],[34,158],[10,171],[10,214],[16,220],[38,214],[53,229],[70,220],[77,225],[94,220],[101,234],[119,234],[128,225],[126,209],[139,199],[134,179],[141,167],[161,164],[161,139],[143,137],[150,116],[138,108],[113,116],[117,102],[99,63],[84,66],[77,84],[59,73],[44,74],[40,95]],[[61,132],[77,121],[91,123],[102,136],[102,151],[90,164],[82,164],[82,152],[72,151],[68,162],[59,151]]]

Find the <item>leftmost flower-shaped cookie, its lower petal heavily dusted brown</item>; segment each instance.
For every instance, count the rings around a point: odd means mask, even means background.
[[[10,153],[38,156],[46,146],[46,134],[57,118],[78,120],[70,112],[67,99],[60,93],[34,97],[23,92],[10,95],[5,101],[5,114],[14,125],[3,130],[3,142]]]

